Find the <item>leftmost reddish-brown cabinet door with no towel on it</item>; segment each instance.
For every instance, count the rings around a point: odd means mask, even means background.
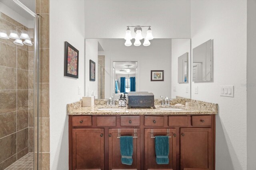
[[[104,129],[73,129],[73,170],[104,170]]]

